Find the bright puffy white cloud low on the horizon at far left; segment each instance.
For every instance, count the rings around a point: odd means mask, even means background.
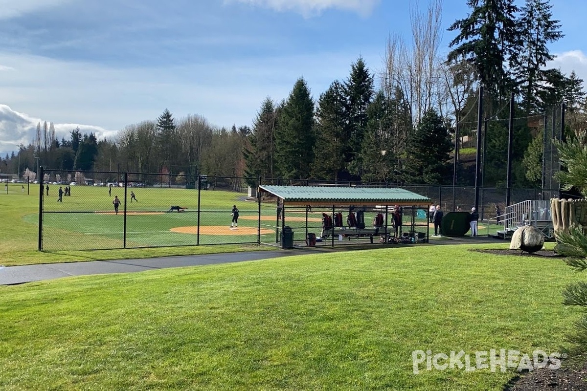
[[[43,124],[45,120],[35,118],[25,113],[12,110],[5,104],[0,104],[0,154],[18,150],[19,144],[28,145],[35,138],[36,125]],[[49,121],[48,121],[49,123]],[[98,139],[114,137],[116,132],[106,130],[93,125],[82,124],[53,124],[55,135],[60,140],[62,137],[69,139],[69,134],[79,127],[82,134],[93,132]]]

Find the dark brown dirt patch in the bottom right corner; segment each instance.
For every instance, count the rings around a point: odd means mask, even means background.
[[[538,368],[513,379],[504,391],[580,391],[587,389],[587,366],[571,368]]]

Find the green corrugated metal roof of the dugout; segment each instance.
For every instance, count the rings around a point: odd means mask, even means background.
[[[336,186],[259,186],[286,202],[380,202],[426,203],[430,198],[400,188],[358,188]]]

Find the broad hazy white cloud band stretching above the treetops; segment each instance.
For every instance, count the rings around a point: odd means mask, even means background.
[[[379,53],[362,55],[372,69],[380,66]],[[303,76],[318,99],[332,81],[348,77],[357,56],[335,52],[116,69],[0,52],[0,64],[14,68],[0,72],[0,103],[55,124],[110,130],[155,120],[165,108],[176,118],[200,114],[219,126],[251,125],[265,97],[286,98]]]

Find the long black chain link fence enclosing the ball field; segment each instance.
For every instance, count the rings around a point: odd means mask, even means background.
[[[261,179],[259,182],[259,179],[251,178],[132,172],[41,172],[43,195],[39,203],[39,249],[42,250],[280,244],[284,222],[281,220],[276,199],[264,199],[259,203],[256,194],[258,183],[403,187],[429,197],[446,211],[457,208],[468,211],[473,206],[475,198],[473,187],[460,186],[453,188],[440,185],[335,183],[283,179]],[[249,187],[249,184],[254,186]],[[9,192],[18,192],[19,188],[22,192],[23,184],[9,185]],[[25,185],[25,189],[26,187]],[[35,193],[39,194],[38,185],[31,186],[31,194]],[[558,189],[511,189],[512,203],[527,199],[550,199],[554,196],[558,196]],[[505,189],[480,189],[481,217],[492,219],[495,216],[495,205],[500,205],[501,210],[504,210],[504,202]],[[238,209],[237,219],[232,212],[235,207]],[[428,232],[426,210],[408,209],[403,212],[403,232]],[[334,215],[339,212],[343,213],[346,219],[348,210],[336,209],[333,213],[329,206],[315,208],[307,213],[303,208],[288,208],[284,211],[287,226],[293,231],[293,240],[301,245],[308,240],[308,233],[321,236],[322,213]],[[366,225],[371,227],[372,220],[382,211],[365,208],[364,212]],[[390,216],[387,216],[386,225],[380,228],[383,235],[395,234],[392,232],[390,219]],[[377,236],[380,236],[380,232],[377,232]],[[335,240],[332,239],[329,237],[329,244],[359,242],[348,237],[339,240],[338,235]],[[370,239],[360,238],[360,241],[366,242]]]

